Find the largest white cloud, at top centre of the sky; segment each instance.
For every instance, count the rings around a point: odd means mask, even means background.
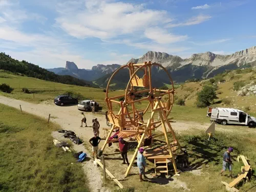
[[[86,1],[85,5],[59,4],[56,23],[77,38],[101,39],[142,32],[171,21],[166,11],[145,9],[143,5],[122,2]]]

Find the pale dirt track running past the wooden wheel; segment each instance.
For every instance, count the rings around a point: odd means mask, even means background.
[[[100,136],[102,137],[102,127],[106,127],[105,122],[105,116],[103,113],[86,113],[87,118],[87,124],[89,127],[80,127],[81,123],[81,112],[77,110],[77,106],[57,106],[53,104],[52,102],[48,103],[40,103],[40,104],[34,104],[29,103],[25,101],[15,100],[7,97],[0,96],[0,103],[12,106],[16,109],[19,109],[19,105],[22,106],[22,110],[31,113],[33,115],[40,116],[42,118],[48,119],[49,114],[51,114],[50,121],[53,121],[55,123],[58,123],[62,129],[64,130],[72,130],[74,131],[80,138],[84,140],[84,142],[88,142],[88,140],[93,137],[93,131],[92,131],[92,119],[97,117],[98,121],[100,122]],[[0,109],[1,111],[1,109]],[[197,123],[197,122],[174,122],[172,123],[173,129],[178,132],[187,132],[187,131],[193,131],[193,130],[206,130],[207,127],[210,125],[210,123]],[[248,128],[248,127],[247,127]],[[222,126],[222,125],[216,125],[216,129],[218,131],[224,131],[224,132],[230,132],[230,131],[239,131],[241,132],[241,129],[239,127],[233,127],[233,126]],[[254,130],[247,129],[248,132]],[[247,133],[248,133],[247,132]],[[55,134],[53,134],[54,137],[58,137]],[[104,142],[101,142],[100,145],[103,145]],[[83,151],[86,152],[89,157],[90,153],[86,150],[84,145],[74,145],[74,149],[76,151]],[[108,150],[108,147],[106,149]],[[113,148],[112,148],[113,150]],[[102,187],[102,179],[101,179],[101,170],[98,169],[94,164],[93,161],[86,161],[83,163],[83,169],[86,173],[88,179],[89,179],[89,186],[91,188],[91,191],[108,191],[104,187]],[[114,173],[113,173],[114,174]]]

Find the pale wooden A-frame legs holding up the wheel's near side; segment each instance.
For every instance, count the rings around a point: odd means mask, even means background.
[[[156,98],[157,99],[157,98]],[[164,132],[164,136],[165,136],[165,140],[166,140],[166,143],[167,143],[167,146],[168,146],[168,150],[169,150],[169,155],[172,157],[172,163],[173,163],[173,166],[174,166],[174,170],[175,170],[175,174],[178,174],[178,169],[177,169],[177,166],[176,166],[176,163],[175,163],[175,158],[174,158],[174,155],[173,155],[173,152],[172,152],[172,147],[170,146],[170,142],[169,142],[169,139],[168,139],[168,136],[167,136],[167,130],[166,130],[166,126],[165,126],[165,123],[167,123],[167,126],[170,130],[170,132],[173,134],[173,137],[174,137],[174,140],[177,142],[177,145],[178,147],[181,149],[181,146],[180,146],[180,143],[179,141],[177,140],[176,138],[176,135],[175,135],[175,132],[173,131],[172,129],[172,126],[170,125],[165,113],[164,113],[164,110],[161,106],[161,102],[159,101],[159,99],[157,99],[157,102],[154,106],[154,109],[152,110],[152,114],[151,114],[151,117],[150,119],[148,119],[147,121],[147,124],[146,124],[146,127],[145,127],[145,130],[144,130],[144,133],[142,134],[141,138],[140,138],[140,141],[136,147],[136,150],[133,154],[133,157],[130,161],[130,165],[129,167],[127,168],[126,172],[125,172],[125,176],[127,176],[129,173],[130,173],[130,170],[133,166],[133,163],[135,161],[135,158],[137,156],[137,153],[138,153],[138,150],[142,144],[142,142],[144,141],[144,138],[146,136],[146,133],[148,131],[148,129],[150,128],[150,125],[151,125],[151,121],[152,119],[154,118],[154,114],[155,112],[159,112],[159,116],[160,116],[160,119],[161,119],[161,122],[162,122],[162,128],[163,128],[163,132]]]

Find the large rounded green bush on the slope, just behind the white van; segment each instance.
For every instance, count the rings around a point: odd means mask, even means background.
[[[203,89],[197,94],[196,105],[199,108],[209,106],[214,99],[218,99],[216,95],[216,87],[204,86]]]

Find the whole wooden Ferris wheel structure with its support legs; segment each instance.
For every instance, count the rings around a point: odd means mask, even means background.
[[[151,76],[153,68],[163,70],[167,74],[169,82],[172,85],[172,89],[160,90],[153,87]],[[122,69],[128,69],[130,73],[130,80],[127,83],[125,94],[109,97],[111,80]],[[139,77],[139,74],[143,74],[143,76]],[[106,136],[106,140],[102,147],[102,152],[108,143],[118,141],[118,139],[113,138],[110,140],[114,129],[119,130],[119,138],[135,137],[138,142],[138,146],[136,147],[133,158],[130,160],[130,165],[126,170],[125,176],[130,173],[131,167],[133,166],[134,160],[137,156],[138,149],[143,145],[144,139],[149,136],[156,138],[163,135],[166,141],[166,153],[159,154],[154,150],[146,150],[144,156],[151,159],[165,158],[166,161],[167,159],[170,159],[172,161],[175,173],[178,173],[175,163],[175,151],[178,147],[181,149],[181,146],[176,138],[172,126],[170,125],[170,119],[167,118],[172,110],[174,93],[173,80],[167,70],[159,63],[129,63],[117,69],[111,76],[108,86],[106,87],[105,101],[109,109],[108,118],[109,122],[112,124],[112,127],[108,133],[108,136]],[[119,101],[118,99],[122,97],[124,97],[124,101]],[[162,98],[164,98],[164,100]],[[148,104],[146,109],[139,110],[137,109],[137,104],[142,101],[147,101]],[[120,110],[118,112],[115,112],[113,108],[114,104],[119,105]],[[143,114],[145,113],[151,113],[150,118],[147,121],[143,121]],[[156,121],[157,118],[154,118],[156,113],[158,113],[160,120]],[[152,135],[152,131],[160,126],[162,126],[163,133],[155,136]],[[168,134],[173,136],[173,143],[170,142]]]

